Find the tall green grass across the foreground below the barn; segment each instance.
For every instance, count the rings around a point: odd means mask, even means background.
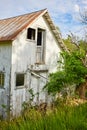
[[[47,114],[32,109],[11,122],[1,121],[0,130],[87,130],[87,104],[62,105]]]

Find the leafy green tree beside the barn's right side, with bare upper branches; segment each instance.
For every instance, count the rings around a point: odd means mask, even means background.
[[[81,22],[86,25],[87,29],[87,11],[80,13]],[[62,52],[61,71],[49,75],[49,81],[45,88],[49,94],[56,94],[63,88],[72,86],[82,87],[87,81],[87,40],[81,40],[73,33],[63,40],[69,52]]]

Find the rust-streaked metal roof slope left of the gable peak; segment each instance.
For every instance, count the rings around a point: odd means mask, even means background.
[[[29,26],[45,11],[46,9],[0,20],[0,41],[13,40],[24,28]]]

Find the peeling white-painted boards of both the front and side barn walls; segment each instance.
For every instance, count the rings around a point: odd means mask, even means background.
[[[46,20],[43,17],[39,17],[32,25],[32,28],[36,30],[37,37],[37,29],[45,29],[46,31],[46,43],[45,43],[45,63],[44,64],[36,64],[36,43],[35,41],[31,41],[26,39],[27,29],[24,29],[22,33],[20,33],[17,38],[12,42],[11,45],[0,44],[0,71],[3,71],[5,68],[5,89],[0,89],[0,96],[2,93],[4,95],[4,99],[0,98],[0,103],[5,102],[7,105],[7,96],[9,91],[9,80],[11,81],[11,96],[10,96],[10,105],[12,106],[12,115],[20,114],[22,110],[22,104],[24,101],[29,101],[29,89],[33,89],[35,94],[33,104],[40,104],[41,102],[47,101],[47,93],[43,90],[44,85],[47,82],[47,77],[50,72],[54,72],[57,68],[57,60],[59,57],[59,53],[61,52],[58,43],[49,28],[49,25],[46,23]],[[11,69],[11,77],[10,75]],[[31,70],[29,70],[31,69]],[[48,71],[47,71],[48,70]],[[35,73],[42,75],[42,77],[38,78],[35,75],[32,75],[32,71]],[[25,73],[25,84],[21,88],[16,87],[16,73]],[[46,77],[46,78],[43,78]],[[7,91],[8,90],[8,91]],[[39,92],[39,96],[36,94]],[[5,101],[1,101],[5,100]]]

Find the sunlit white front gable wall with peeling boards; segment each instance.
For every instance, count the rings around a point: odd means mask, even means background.
[[[13,115],[18,115],[21,111],[22,103],[29,100],[29,89],[32,88],[34,94],[41,91],[41,88],[46,84],[48,72],[56,70],[58,54],[61,51],[49,25],[43,17],[38,18],[30,27],[36,30],[35,40],[26,39],[27,29],[25,29],[17,36],[12,44],[11,105]],[[36,64],[38,27],[46,30],[45,63],[40,65]],[[39,71],[42,77],[38,78],[38,76],[32,74],[32,70]],[[25,84],[22,87],[16,87],[16,73],[18,72],[25,73]],[[45,100],[46,93],[40,92],[39,103]],[[38,102],[37,96],[34,97],[34,102]]]

